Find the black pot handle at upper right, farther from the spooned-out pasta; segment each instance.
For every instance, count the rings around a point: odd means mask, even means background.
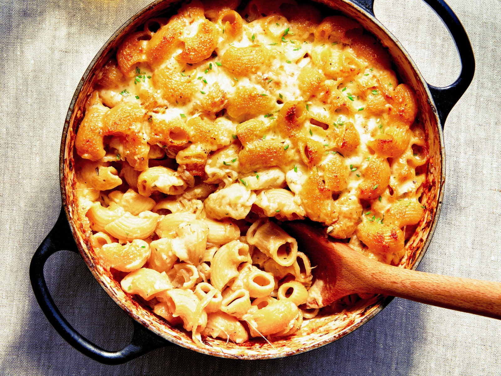
[[[351,1],[371,16],[374,16],[374,0]],[[424,0],[424,2],[433,9],[445,24],[456,45],[461,62],[461,72],[454,83],[446,87],[436,87],[428,84],[431,96],[435,102],[438,118],[443,128],[450,110],[452,110],[452,107],[454,107],[459,98],[464,94],[473,79],[475,57],[473,56],[473,50],[471,49],[466,31],[452,9],[443,0]]]

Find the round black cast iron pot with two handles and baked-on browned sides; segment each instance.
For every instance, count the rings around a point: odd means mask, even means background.
[[[442,127],[449,111],[473,78],[475,62],[468,37],[447,4],[442,0],[425,0],[450,31],[462,65],[459,78],[452,85],[443,88],[434,87],[424,81],[400,43],[374,17],[373,0],[320,0],[320,2],[355,19],[369,33],[376,36],[392,57],[393,68],[399,75],[399,82],[409,84],[416,91],[420,108],[417,119],[423,124],[426,132],[430,160],[427,187],[422,202],[426,207],[425,216],[407,242],[406,254],[401,262],[401,266],[415,269],[431,241],[442,203],[445,182]],[[30,265],[30,279],[38,303],[64,339],[87,356],[107,364],[123,363],[155,348],[173,343],[215,356],[264,359],[293,355],[333,342],[374,317],[392,300],[392,297],[378,295],[370,300],[362,300],[342,312],[315,317],[294,335],[275,340],[273,346],[259,339],[243,344],[231,342],[226,344],[225,341],[210,337],[204,339],[204,346],[197,346],[189,333],[171,327],[151,310],[126,295],[109,271],[101,266],[90,247],[85,235],[86,230],[79,219],[73,190],[75,184],[73,147],[76,131],[84,116],[85,102],[92,92],[97,70],[116,52],[124,36],[154,15],[169,14],[169,12],[172,14],[175,3],[172,0],[157,0],[132,17],[101,48],[78,84],[66,116],[61,140],[61,214],[52,231],[35,252]],[[80,252],[100,285],[134,319],[134,335],[131,342],[123,349],[107,351],[100,348],[79,334],[61,315],[49,293],[43,272],[47,259],[60,250]]]

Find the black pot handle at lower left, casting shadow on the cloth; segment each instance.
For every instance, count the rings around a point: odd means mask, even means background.
[[[44,277],[44,265],[47,259],[61,250],[79,253],[64,208],[61,208],[61,213],[54,228],[33,255],[30,264],[30,280],[40,308],[42,308],[52,326],[68,343],[83,354],[104,364],[125,363],[151,350],[172,344],[152,333],[135,320],[133,320],[134,334],[131,342],[118,351],[107,351],[77,332],[61,315],[47,288]]]

